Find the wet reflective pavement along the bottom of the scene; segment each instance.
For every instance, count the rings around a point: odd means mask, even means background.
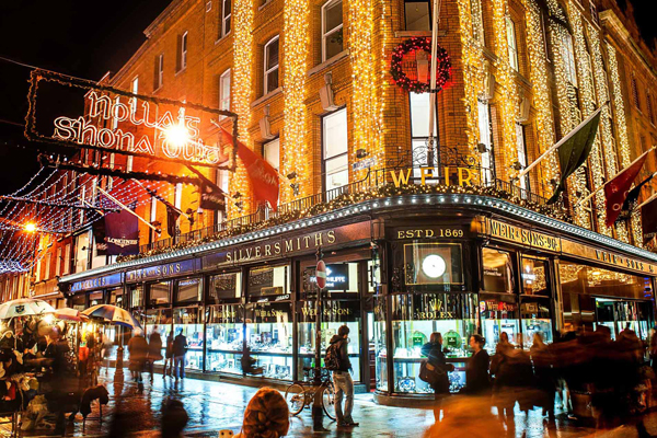
[[[134,433],[137,436],[153,435],[159,428],[160,412],[162,403],[168,397],[181,400],[187,413],[189,423],[185,430],[187,436],[217,437],[221,429],[230,429],[234,434],[240,431],[242,415],[256,388],[242,387],[233,383],[211,382],[196,379],[184,379],[177,383],[171,379],[163,379],[155,374],[152,383],[145,374],[143,393],[138,391],[137,384],[126,370],[124,381],[114,379],[114,370],[107,376],[101,373],[101,383],[105,384],[110,392],[110,404],[103,407],[103,422],[99,420],[99,407],[92,405],[92,413],[83,425],[82,416],[78,414],[76,420],[67,428],[67,436],[105,436],[112,427],[113,413],[117,410],[125,415],[122,416],[120,429],[123,433]],[[120,394],[120,397],[117,396]],[[324,426],[328,429],[325,434],[312,433],[312,419],[310,411],[304,410],[298,417],[291,418],[289,437],[322,436],[322,437],[422,437],[427,429],[434,425],[434,413],[430,410],[389,407],[374,404],[371,394],[356,394],[354,418],[360,423],[355,428],[338,428],[334,422],[324,419]],[[493,417],[491,417],[493,418]],[[472,422],[479,423],[479,422]],[[518,412],[515,418],[515,434],[500,431],[500,425],[486,425],[482,418],[481,427],[475,434],[448,434],[450,438],[460,436],[497,437],[512,436],[518,438],[538,437],[637,437],[636,428],[631,425],[615,427],[609,430],[595,430],[591,427],[578,425],[567,419],[564,415],[558,416],[552,427],[546,427],[546,419],[540,410],[534,410],[526,417]],[[645,416],[647,430],[657,435],[657,413]],[[445,423],[447,426],[447,423]],[[470,424],[472,426],[472,424]],[[477,425],[479,426],[479,425]],[[452,427],[452,426],[450,426]],[[453,426],[453,429],[462,429],[462,425]],[[9,435],[8,425],[0,427],[0,433]],[[38,437],[48,435],[48,428],[33,431],[22,431],[21,435]],[[500,435],[502,434],[502,435]],[[436,430],[431,436],[446,436],[445,430]]]

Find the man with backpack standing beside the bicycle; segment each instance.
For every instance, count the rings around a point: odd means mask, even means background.
[[[333,387],[335,389],[335,416],[338,426],[354,427],[358,423],[351,418],[354,408],[354,380],[351,380],[351,362],[347,345],[349,344],[349,327],[342,325],[337,334],[331,338],[331,345],[326,349],[324,365],[326,369],[333,371]],[[345,406],[343,411],[343,397]]]

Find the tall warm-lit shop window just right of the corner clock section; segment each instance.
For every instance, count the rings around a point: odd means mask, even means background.
[[[515,264],[516,253],[482,249],[479,313],[481,334],[486,338],[484,348],[491,355],[495,354],[502,333],[507,334],[511,344],[521,343]]]

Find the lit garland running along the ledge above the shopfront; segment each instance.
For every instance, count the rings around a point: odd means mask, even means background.
[[[572,223],[570,217],[567,211],[560,207],[540,205],[527,199],[522,199],[507,191],[500,191],[495,187],[477,187],[477,186],[445,186],[445,185],[415,185],[408,184],[401,187],[396,187],[394,184],[387,184],[381,187],[374,187],[369,192],[355,193],[355,194],[343,194],[328,203],[318,204],[310,207],[307,210],[293,210],[276,216],[272,219],[264,220],[262,222],[240,224],[237,221],[237,226],[227,228],[219,231],[216,234],[207,235],[203,239],[189,240],[175,245],[166,247],[157,247],[142,252],[137,255],[118,256],[117,262],[127,262],[132,260],[146,258],[153,255],[171,253],[178,250],[184,250],[192,246],[198,246],[204,243],[215,242],[221,239],[231,238],[234,235],[244,234],[247,232],[264,230],[269,227],[280,226],[292,220],[304,219],[316,215],[322,215],[328,211],[333,211],[343,207],[361,203],[370,199],[385,198],[391,196],[400,195],[427,195],[427,194],[445,194],[445,195],[480,195],[491,196],[499,199],[509,200],[520,207],[525,207],[537,211],[541,215],[549,216],[551,218],[561,220],[563,222]]]

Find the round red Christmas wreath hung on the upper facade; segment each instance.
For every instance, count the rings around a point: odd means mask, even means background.
[[[416,79],[411,79],[404,72],[402,62],[404,55],[411,51],[424,50],[428,54],[431,53],[431,38],[414,36],[411,39],[406,39],[392,50],[392,59],[390,61],[390,74],[394,82],[403,90],[412,93],[427,93],[431,91],[430,84],[420,82]],[[449,80],[449,73],[451,69],[450,56],[446,49],[438,46],[437,51],[437,67],[436,67],[436,90],[434,92],[442,91],[442,87]]]

